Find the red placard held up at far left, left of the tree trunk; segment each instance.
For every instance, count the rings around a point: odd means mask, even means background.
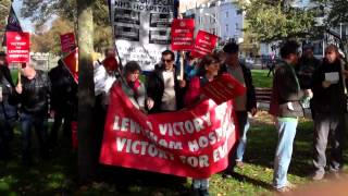
[[[30,59],[30,34],[24,32],[7,32],[8,62],[28,63]]]

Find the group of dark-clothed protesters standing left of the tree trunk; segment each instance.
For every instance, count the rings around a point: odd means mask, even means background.
[[[13,157],[11,142],[18,123],[22,144],[22,163],[36,163],[32,149],[35,130],[40,159],[47,160],[58,145],[58,134],[64,120],[64,135],[72,137],[71,122],[77,119],[77,84],[60,60],[49,73],[36,70],[36,62],[22,63],[18,77],[13,81],[7,54],[0,52],[0,159]],[[54,119],[51,130],[48,119]]]

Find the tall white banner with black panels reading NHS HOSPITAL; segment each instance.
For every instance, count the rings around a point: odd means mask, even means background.
[[[171,44],[174,1],[114,0],[110,7],[122,64],[134,60],[142,71],[152,71]]]

